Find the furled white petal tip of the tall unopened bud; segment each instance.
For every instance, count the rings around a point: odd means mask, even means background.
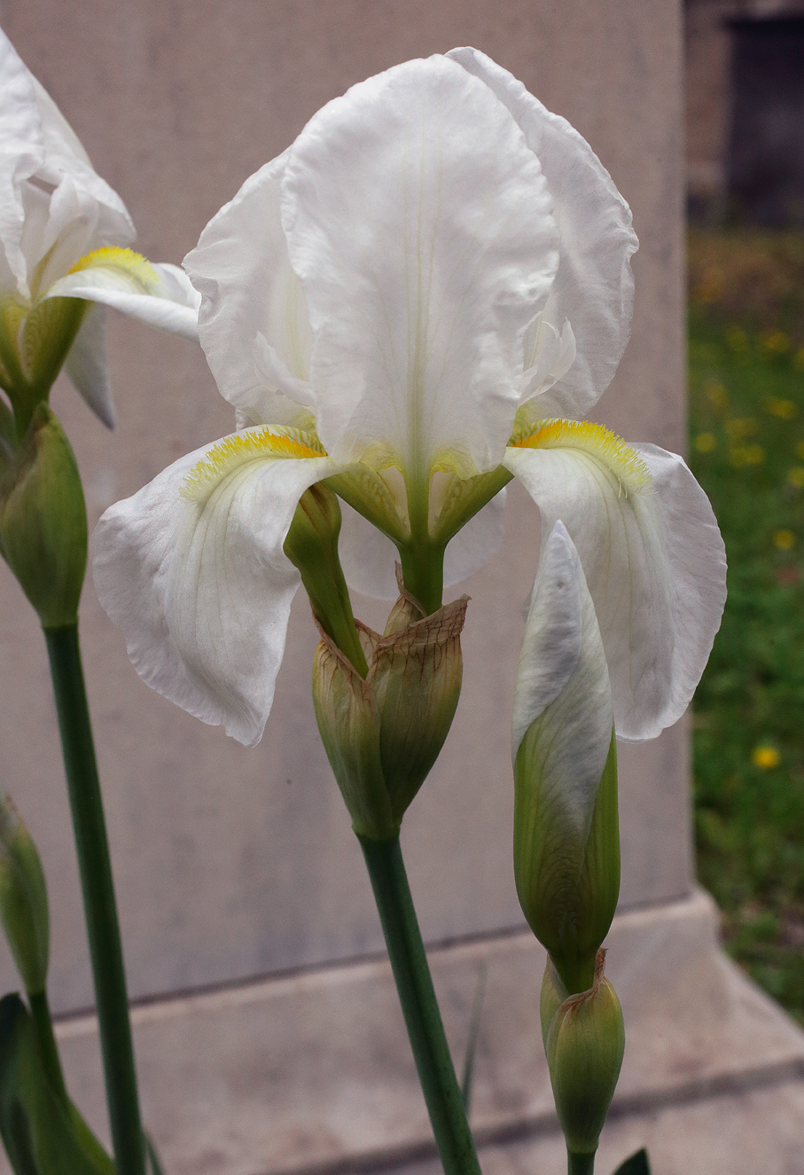
[[[550,531],[533,585],[519,660],[512,756],[533,723],[542,799],[582,848],[589,832],[614,713],[606,656],[581,562],[561,522]]]

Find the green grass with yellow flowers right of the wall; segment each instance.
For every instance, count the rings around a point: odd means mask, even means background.
[[[704,246],[711,267],[717,239]],[[739,240],[727,240],[717,281],[696,273],[701,241],[691,248],[690,464],[729,559],[723,626],[694,704],[698,873],[728,951],[804,1023],[800,306],[790,282],[770,309],[757,311],[756,290],[741,308],[728,254]]]

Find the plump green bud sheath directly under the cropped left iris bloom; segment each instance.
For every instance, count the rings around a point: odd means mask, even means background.
[[[0,479],[0,553],[42,627],[75,624],[87,566],[87,511],[69,441],[43,403]]]

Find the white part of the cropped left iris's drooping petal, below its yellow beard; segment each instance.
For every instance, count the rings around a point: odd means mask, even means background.
[[[46,297],[82,297],[102,302],[168,334],[198,337],[198,295],[177,266],[150,264],[157,282],[153,293],[116,267],[90,266],[60,277]]]

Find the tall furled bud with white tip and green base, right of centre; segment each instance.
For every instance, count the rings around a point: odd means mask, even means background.
[[[559,522],[542,555],[514,698],[520,905],[569,993],[590,987],[620,892],[614,714],[597,620]]]

